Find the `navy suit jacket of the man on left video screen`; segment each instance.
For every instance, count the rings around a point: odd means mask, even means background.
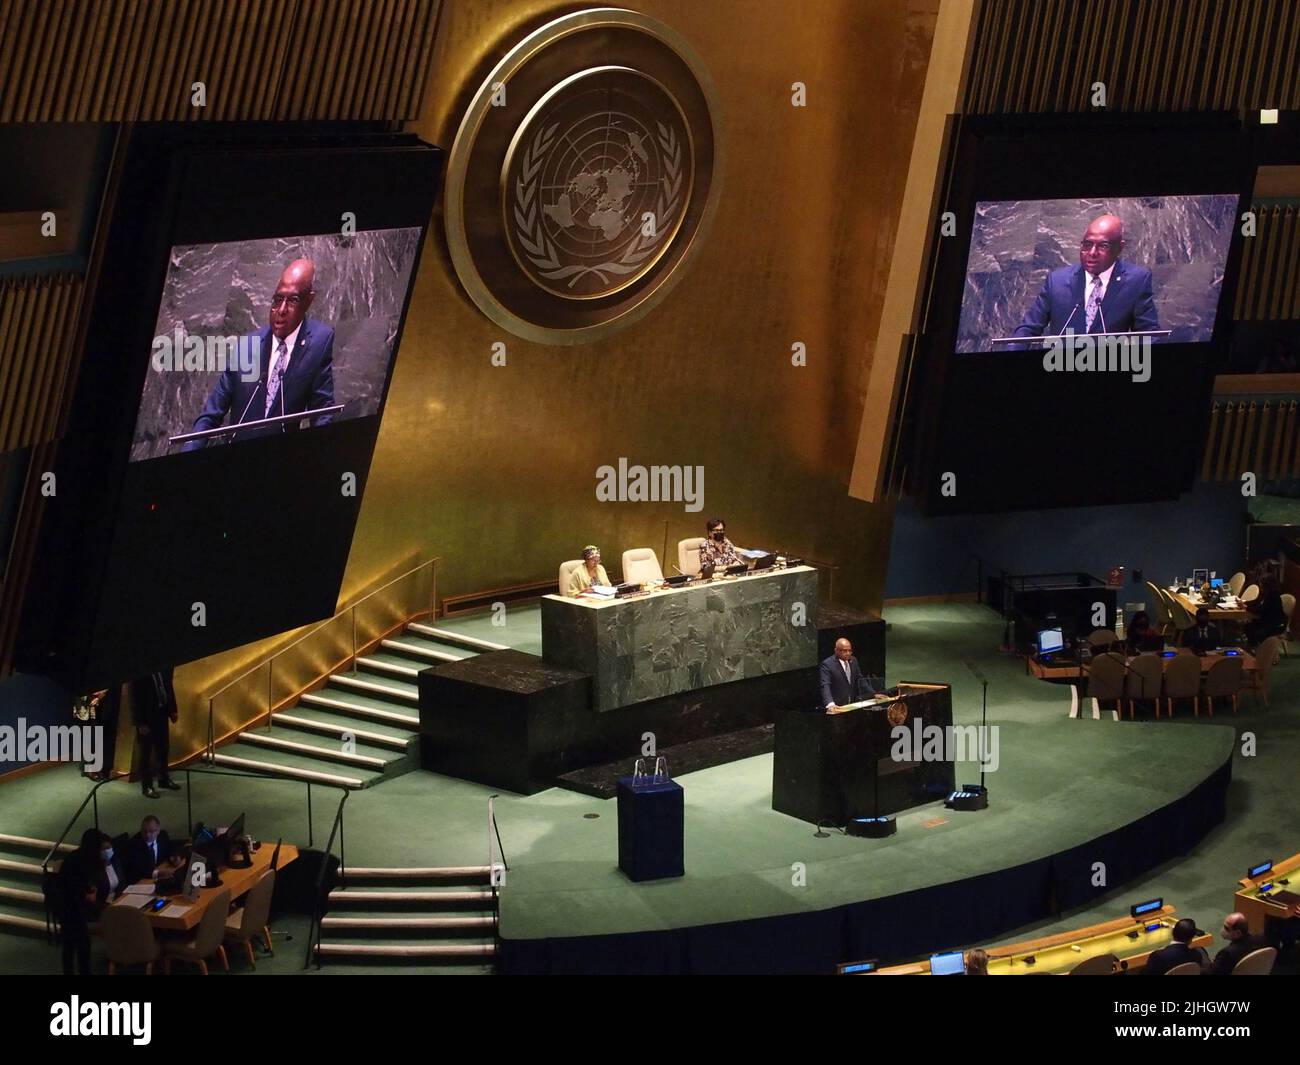
[[[226,421],[230,424],[243,421],[257,421],[266,415],[266,381],[270,377],[270,367],[276,358],[276,342],[270,335],[270,326],[264,325],[255,334],[261,347],[261,376],[256,381],[244,381],[239,375],[239,368],[233,367],[217,378],[208,402],[203,404],[202,414],[194,420],[191,432],[200,429],[216,429]],[[318,407],[334,404],[334,330],[325,322],[316,319],[303,319],[302,329],[298,332],[298,341],[294,350],[289,352],[289,371],[283,381],[280,382],[280,393],[276,395],[276,406],[270,411],[270,417],[282,414],[295,414],[298,411],[313,411]],[[332,415],[320,415],[312,423],[324,425]],[[289,423],[287,425],[294,425]],[[266,436],[270,433],[287,432],[287,425],[261,427],[248,429],[246,433],[233,434],[243,440],[246,437]],[[194,451],[203,447],[207,441],[191,440],[183,451]]]

